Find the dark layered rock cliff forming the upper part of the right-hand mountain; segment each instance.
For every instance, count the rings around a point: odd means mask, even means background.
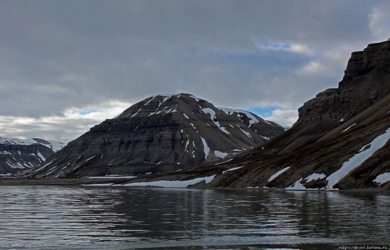
[[[272,147],[287,146],[301,136],[330,131],[390,92],[389,42],[369,44],[353,52],[337,89],[327,89],[298,109],[299,118]],[[271,146],[271,144],[270,144]]]

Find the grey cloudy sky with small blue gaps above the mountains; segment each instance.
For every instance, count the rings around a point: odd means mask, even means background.
[[[154,94],[291,126],[353,51],[390,37],[390,2],[0,0],[0,136],[69,142]]]

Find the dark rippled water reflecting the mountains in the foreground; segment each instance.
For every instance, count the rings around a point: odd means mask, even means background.
[[[0,186],[0,248],[336,249],[390,239],[390,195]]]

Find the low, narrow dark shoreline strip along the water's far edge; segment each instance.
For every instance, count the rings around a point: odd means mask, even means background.
[[[122,178],[118,178],[122,179]],[[99,181],[112,181],[116,178],[99,178]],[[18,179],[18,178],[0,178],[0,185],[4,186],[83,186],[85,184],[96,184],[96,179],[78,178],[78,179]],[[102,185],[104,186],[104,185]],[[89,186],[89,187],[99,187]],[[126,187],[126,188],[165,188],[161,186],[104,186],[104,187]],[[283,188],[225,188],[225,187],[194,187],[188,189],[216,189],[216,190],[263,190],[263,191],[331,191],[331,192],[368,192],[368,193],[390,193],[390,190],[380,188],[354,188],[343,190],[299,190]]]

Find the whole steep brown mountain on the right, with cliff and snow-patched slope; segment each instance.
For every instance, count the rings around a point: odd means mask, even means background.
[[[353,52],[344,78],[298,121],[252,150],[190,170],[112,181],[129,186],[390,189],[390,42]]]

